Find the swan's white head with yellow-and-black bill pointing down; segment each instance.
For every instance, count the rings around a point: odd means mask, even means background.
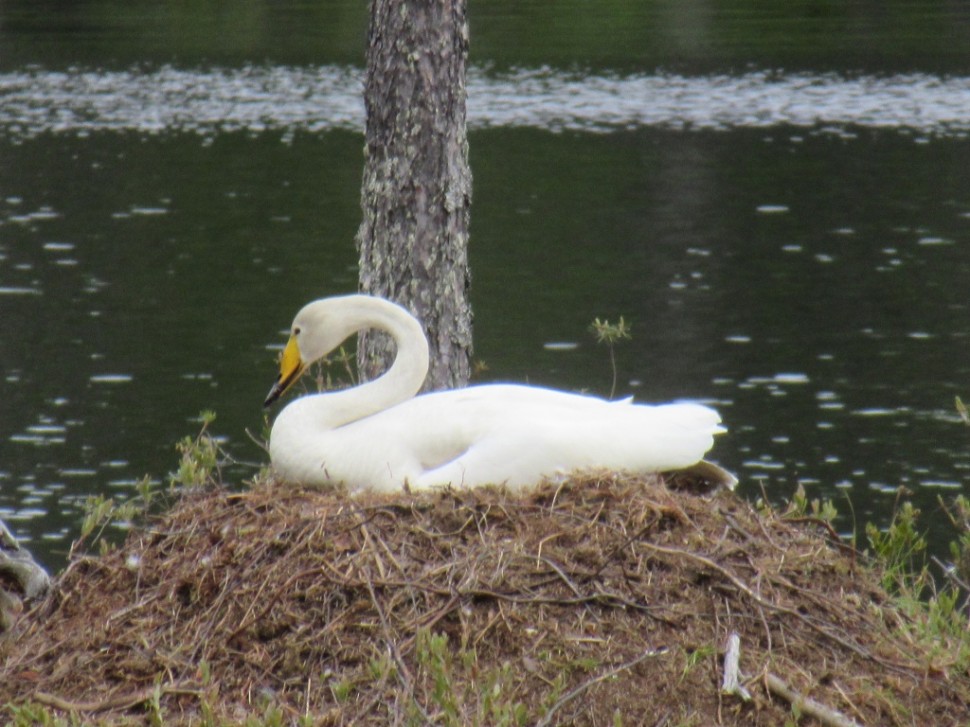
[[[290,340],[280,356],[280,373],[269,390],[263,406],[285,394],[307,366],[323,358],[354,332],[348,330],[344,316],[337,310],[339,298],[318,300],[303,307],[290,326]]]

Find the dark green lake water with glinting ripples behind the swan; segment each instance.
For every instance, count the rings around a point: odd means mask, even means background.
[[[970,23],[757,6],[473,12],[482,380],[608,394],[588,327],[623,315],[618,393],[715,405],[743,494],[802,485],[850,531],[903,485],[942,552],[937,497],[970,482]],[[0,11],[0,518],[50,563],[203,409],[233,481],[265,463],[246,430],[289,321],[356,287],[366,17],[240,8],[209,36],[174,4]]]

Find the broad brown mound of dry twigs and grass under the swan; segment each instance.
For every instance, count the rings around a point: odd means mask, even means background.
[[[186,492],[123,547],[76,557],[0,642],[0,714],[970,720],[967,674],[945,674],[904,636],[909,617],[853,553],[817,523],[694,485],[590,476],[528,493]],[[725,691],[732,640],[741,682]]]

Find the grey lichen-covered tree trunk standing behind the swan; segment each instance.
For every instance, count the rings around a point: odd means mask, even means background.
[[[464,386],[472,349],[465,0],[371,0],[370,23],[360,288],[424,325],[425,389]],[[384,338],[361,339],[363,377],[389,360]]]

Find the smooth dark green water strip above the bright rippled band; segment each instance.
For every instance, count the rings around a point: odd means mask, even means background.
[[[688,72],[749,67],[965,72],[958,0],[469,2],[472,61],[498,68]],[[0,67],[360,65],[363,0],[8,0]],[[960,71],[958,71],[960,69]]]

